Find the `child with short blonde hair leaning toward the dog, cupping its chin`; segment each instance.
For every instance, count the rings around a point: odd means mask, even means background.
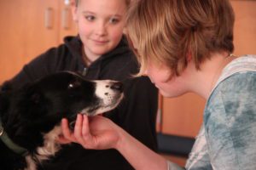
[[[166,97],[207,99],[186,169],[256,169],[256,56],[231,54],[233,26],[228,0],[139,0],[128,14],[139,75]],[[137,170],[183,169],[100,116],[78,116],[74,133],[64,119],[62,129],[84,148],[119,150]]]

